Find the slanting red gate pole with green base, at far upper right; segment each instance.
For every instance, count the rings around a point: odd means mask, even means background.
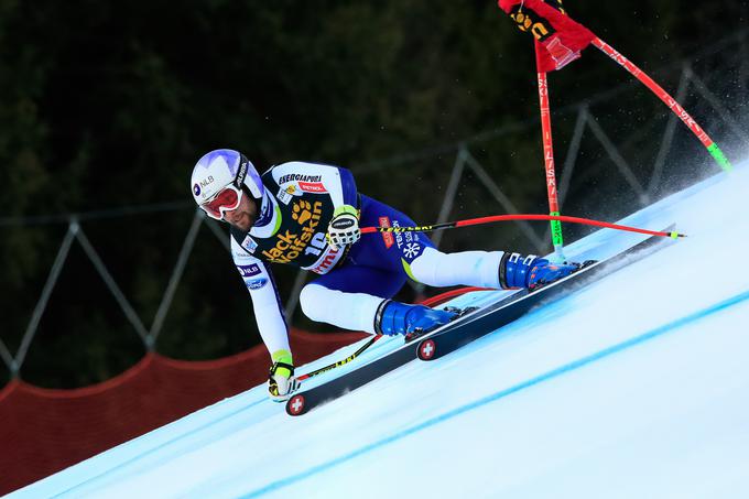
[[[631,61],[621,55],[611,45],[607,44],[599,37],[594,39],[593,44],[603,53],[605,53],[606,55],[611,57],[615,62],[617,62],[621,67],[627,69],[645,87],[650,88],[650,90],[653,94],[655,94],[663,101],[663,104],[665,104],[669,107],[669,109],[671,109],[679,118],[681,118],[681,120],[684,121],[684,124],[686,124],[690,128],[690,130],[692,130],[692,133],[694,133],[697,137],[697,139],[703,143],[703,145],[707,149],[713,159],[716,161],[716,163],[718,163],[718,165],[723,170],[725,170],[726,172],[730,172],[734,169],[732,165],[730,164],[730,161],[728,161],[728,159],[723,153],[720,148],[718,148],[718,144],[713,142],[713,139],[709,138],[707,132],[705,132],[705,130],[703,130],[702,127],[697,124],[694,118],[692,118],[692,116],[690,116],[690,113],[686,112],[686,110],[673,97],[671,97],[671,95],[669,95],[667,91],[665,91],[659,84],[656,84],[650,76],[648,76],[642,69],[636,66]]]

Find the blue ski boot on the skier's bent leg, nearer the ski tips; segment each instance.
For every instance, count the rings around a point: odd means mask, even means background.
[[[374,332],[387,336],[421,335],[447,324],[457,315],[456,312],[438,311],[424,305],[408,305],[386,300],[380,304],[374,315]]]

